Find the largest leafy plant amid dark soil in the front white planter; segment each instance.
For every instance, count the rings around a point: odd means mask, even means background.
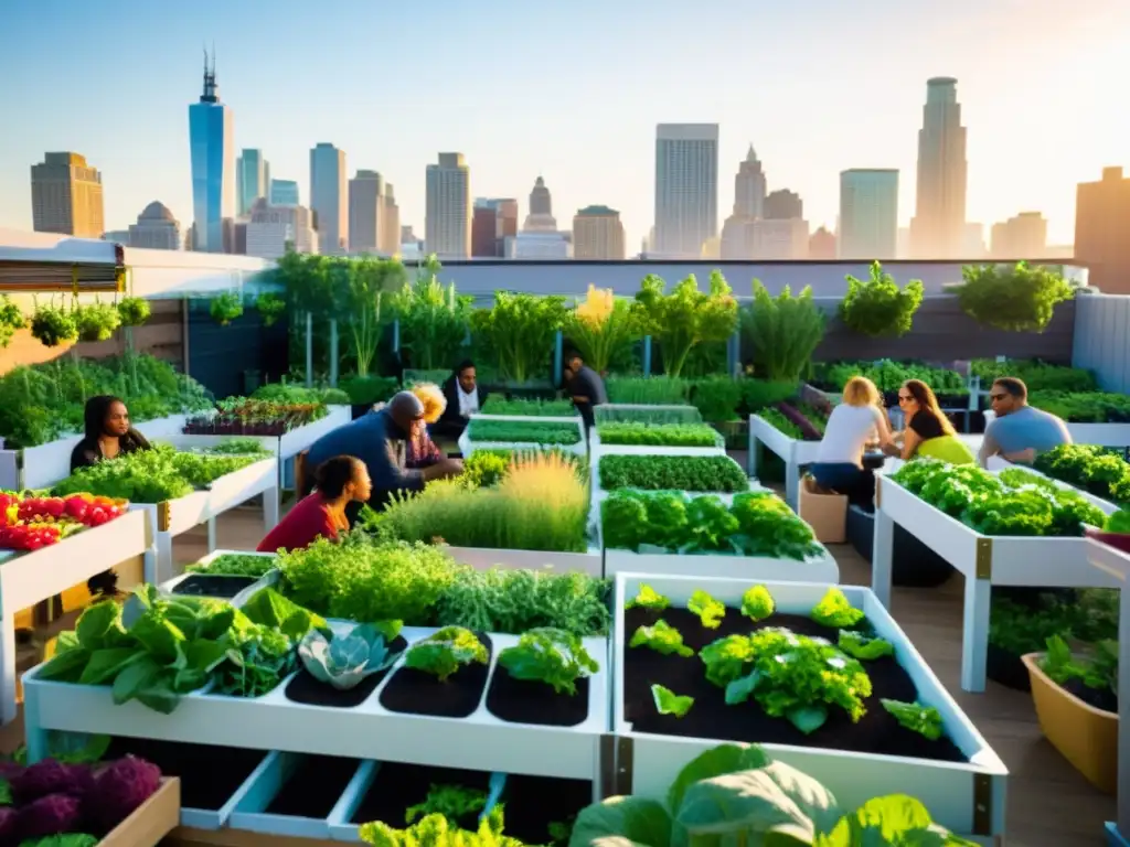
[[[863,666],[820,638],[766,628],[731,635],[703,647],[706,679],[725,689],[729,705],[756,699],[765,714],[784,717],[808,734],[820,728],[829,707],[858,722],[867,711],[871,680]]]

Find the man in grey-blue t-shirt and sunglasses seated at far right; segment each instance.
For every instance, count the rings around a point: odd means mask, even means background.
[[[979,457],[982,468],[988,466],[992,456],[1032,464],[1040,453],[1071,444],[1067,424],[1028,405],[1028,386],[1023,379],[1001,377],[992,384],[989,400],[997,417],[985,427]]]

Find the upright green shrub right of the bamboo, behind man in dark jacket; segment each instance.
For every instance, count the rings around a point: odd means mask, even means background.
[[[454,282],[440,282],[440,268],[438,260],[428,256],[416,280],[392,303],[400,320],[400,347],[415,368],[453,368],[467,340],[471,298],[458,296]]]

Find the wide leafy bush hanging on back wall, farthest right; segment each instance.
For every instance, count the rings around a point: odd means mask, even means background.
[[[1055,306],[1075,297],[1062,270],[1019,262],[965,267],[956,289],[962,309],[983,326],[1008,332],[1043,332]]]

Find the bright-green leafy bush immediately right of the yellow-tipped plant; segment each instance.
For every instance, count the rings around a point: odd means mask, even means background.
[[[663,369],[668,376],[679,376],[697,344],[725,341],[738,329],[738,302],[719,271],[710,276],[709,291],[698,290],[692,274],[666,292],[667,283],[647,274],[640,283],[632,312],[642,334],[650,334],[660,344]]]

